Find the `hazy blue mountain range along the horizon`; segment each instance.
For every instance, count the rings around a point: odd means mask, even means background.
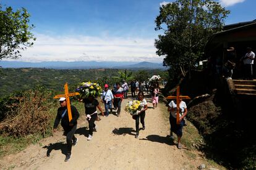
[[[54,68],[54,69],[90,69],[90,68],[118,68],[118,69],[166,69],[161,63],[151,62],[16,62],[0,61],[2,68]]]

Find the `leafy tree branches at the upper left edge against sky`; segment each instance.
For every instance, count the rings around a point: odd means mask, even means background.
[[[30,32],[34,26],[28,25],[30,14],[25,8],[12,11],[12,7],[2,10],[0,4],[0,60],[4,58],[17,59],[20,50],[33,45],[35,41]]]

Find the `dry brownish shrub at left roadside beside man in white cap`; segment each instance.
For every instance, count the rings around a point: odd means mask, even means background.
[[[3,100],[2,100],[3,101]],[[52,92],[44,87],[19,92],[9,100],[4,99],[6,116],[0,123],[0,133],[4,136],[22,137],[40,133],[45,136],[53,119],[51,108],[56,105]]]

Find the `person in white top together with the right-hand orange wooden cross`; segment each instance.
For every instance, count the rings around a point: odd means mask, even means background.
[[[173,132],[177,135],[177,148],[181,149],[182,128],[184,126],[184,117],[187,115],[187,105],[184,101],[182,101],[182,99],[190,99],[190,97],[179,95],[178,86],[177,96],[168,96],[166,99],[176,99],[176,103],[171,100],[168,105],[168,111],[170,112],[169,122],[171,125],[170,137],[171,139],[174,139]]]

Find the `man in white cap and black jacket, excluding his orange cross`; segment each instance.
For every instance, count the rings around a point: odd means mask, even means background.
[[[79,118],[79,112],[77,109],[73,106],[70,105],[71,107],[71,114],[72,114],[72,119],[69,122],[69,116],[67,114],[67,102],[65,97],[61,97],[59,99],[59,103],[61,107],[58,108],[57,115],[54,121],[53,125],[53,132],[57,132],[57,127],[59,125],[59,122],[61,121],[61,126],[64,129],[64,134],[66,135],[66,140],[67,140],[67,155],[65,158],[65,161],[69,161],[71,157],[71,149],[72,145],[77,144],[77,138],[74,136],[75,130],[77,129],[77,119]]]

